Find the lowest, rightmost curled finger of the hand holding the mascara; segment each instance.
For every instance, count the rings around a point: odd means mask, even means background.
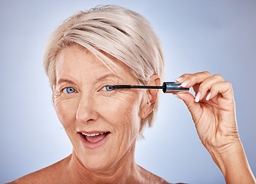
[[[216,97],[218,94],[221,94],[225,99],[233,99],[233,88],[232,84],[228,81],[219,82],[213,84],[210,89],[210,93],[208,94],[208,100]]]

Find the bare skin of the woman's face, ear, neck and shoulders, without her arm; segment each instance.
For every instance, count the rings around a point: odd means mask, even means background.
[[[128,67],[116,64],[119,77],[81,46],[58,54],[53,100],[73,152],[13,183],[168,183],[135,163],[141,119],[151,113],[158,91],[106,90],[108,85],[138,84]],[[158,75],[149,84],[159,85]],[[108,138],[97,146],[81,136],[101,132]]]

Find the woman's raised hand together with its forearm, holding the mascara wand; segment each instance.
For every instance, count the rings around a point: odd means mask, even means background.
[[[183,74],[176,81],[182,83],[182,87],[194,89],[195,97],[175,95],[187,105],[201,142],[223,172],[226,182],[254,183],[238,135],[231,83],[209,72]]]

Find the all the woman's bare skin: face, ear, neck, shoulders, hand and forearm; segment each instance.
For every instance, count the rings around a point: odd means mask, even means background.
[[[106,90],[108,85],[138,84],[127,67],[116,64],[121,77],[78,45],[58,54],[54,105],[73,153],[12,183],[168,183],[135,163],[140,121],[151,113],[158,91]],[[226,182],[255,183],[238,135],[231,84],[208,72],[183,74],[177,81],[194,88],[196,97],[175,95],[188,106],[198,136]],[[160,84],[157,74],[148,82]],[[82,131],[109,132],[108,140],[92,148],[81,143]]]

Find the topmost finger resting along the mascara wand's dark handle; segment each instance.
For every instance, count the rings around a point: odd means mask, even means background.
[[[178,81],[181,83],[181,87],[192,87],[194,84],[200,84],[211,77],[211,74],[208,71],[203,71],[195,74],[184,74],[181,77],[183,78]]]

